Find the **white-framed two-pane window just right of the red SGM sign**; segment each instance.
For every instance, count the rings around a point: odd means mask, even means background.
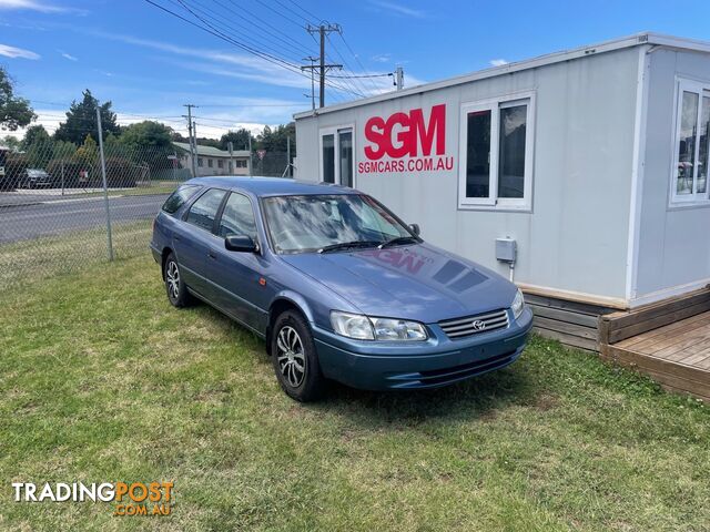
[[[462,105],[459,207],[529,209],[534,95]]]

